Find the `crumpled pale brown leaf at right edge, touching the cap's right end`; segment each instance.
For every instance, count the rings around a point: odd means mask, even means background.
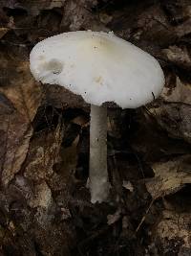
[[[167,85],[161,94],[164,103],[151,105],[149,111],[169,136],[191,143],[191,85],[180,81],[179,77],[176,77],[174,86]]]

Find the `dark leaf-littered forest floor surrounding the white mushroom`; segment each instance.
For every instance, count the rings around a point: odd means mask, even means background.
[[[110,202],[86,188],[89,106],[35,82],[32,47],[114,31],[159,59],[160,98],[109,109]],[[0,0],[0,255],[191,255],[191,2]]]

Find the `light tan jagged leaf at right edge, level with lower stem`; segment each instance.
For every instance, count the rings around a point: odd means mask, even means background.
[[[146,181],[146,188],[152,198],[160,198],[180,190],[186,183],[191,183],[191,155],[158,162],[152,165],[154,178]]]

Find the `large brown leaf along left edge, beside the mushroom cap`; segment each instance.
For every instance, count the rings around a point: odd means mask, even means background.
[[[32,120],[42,99],[40,85],[36,83],[34,86],[29,62],[25,61],[23,55],[18,58],[13,49],[10,52],[0,52],[0,68],[6,70],[6,83],[3,80],[0,87],[0,166],[3,185],[7,185],[19,172],[25,160],[32,137]]]

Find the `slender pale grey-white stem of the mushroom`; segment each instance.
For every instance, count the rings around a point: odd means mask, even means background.
[[[91,105],[90,121],[90,191],[91,201],[108,198],[107,107]]]

